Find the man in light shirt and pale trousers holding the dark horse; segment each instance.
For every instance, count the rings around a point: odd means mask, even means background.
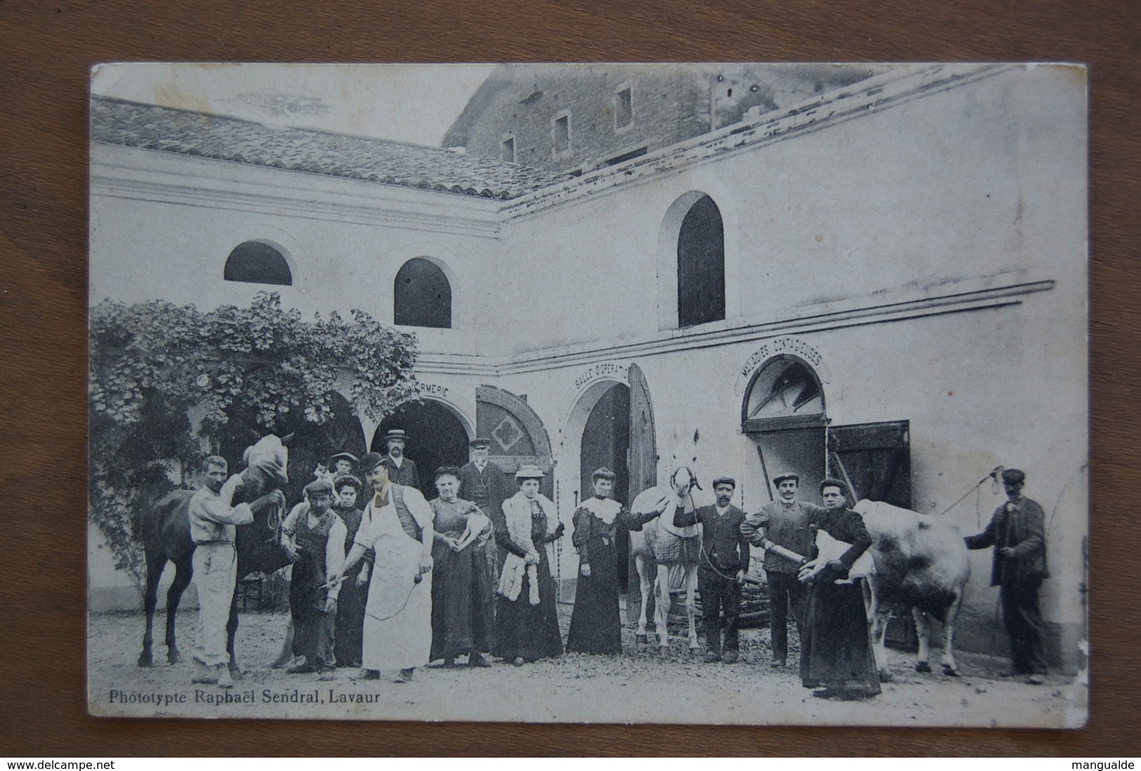
[[[235,528],[252,522],[253,511],[246,503],[230,505],[242,478],[235,474],[226,479],[226,458],[211,455],[202,470],[205,484],[191,498],[188,511],[194,539],[194,583],[199,590],[197,644],[194,648],[199,672],[193,682],[233,688],[226,624],[237,583]]]

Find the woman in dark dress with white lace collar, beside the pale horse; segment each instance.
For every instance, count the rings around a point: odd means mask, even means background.
[[[593,497],[574,512],[572,543],[578,550],[567,652],[621,654],[622,616],[618,611],[618,530],[639,526],[638,518],[610,498],[615,473],[599,469],[592,474]]]

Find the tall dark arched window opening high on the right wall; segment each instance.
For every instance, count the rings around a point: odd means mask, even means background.
[[[725,318],[725,228],[713,198],[689,208],[678,233],[678,326]]]

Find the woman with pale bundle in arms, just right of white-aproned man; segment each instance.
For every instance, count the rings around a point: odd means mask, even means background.
[[[468,666],[491,666],[483,652],[491,650],[495,623],[492,582],[484,546],[492,522],[471,501],[456,497],[460,470],[436,470],[439,497],[429,501],[436,516],[432,544],[431,659],[455,666],[467,656]]]

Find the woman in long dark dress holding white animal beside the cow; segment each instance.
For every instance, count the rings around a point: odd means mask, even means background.
[[[814,525],[836,541],[851,544],[827,562],[820,559],[801,570],[808,583],[808,611],[800,642],[800,677],[804,688],[824,688],[822,696],[866,697],[880,692],[880,673],[864,608],[864,578],[848,578],[852,563],[872,545],[863,518],[844,508],[843,482],[825,479],[820,495],[826,511]]]

